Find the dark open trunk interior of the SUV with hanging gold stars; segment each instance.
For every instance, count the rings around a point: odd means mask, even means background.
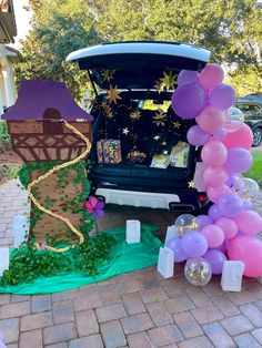
[[[172,93],[149,91],[121,92],[121,103],[110,105],[110,116],[100,103],[93,105],[93,145],[90,158],[92,165],[90,177],[102,185],[123,186],[124,190],[145,191],[164,190],[170,192],[177,187],[188,187],[194,170],[195,150],[187,143],[190,121],[175,116],[171,108]],[[135,117],[135,119],[134,119]],[[119,140],[121,144],[121,162],[99,164],[97,143],[101,140]],[[184,146],[183,163],[178,158],[167,168],[152,167],[155,156],[175,154]],[[181,162],[181,161],[180,161]]]

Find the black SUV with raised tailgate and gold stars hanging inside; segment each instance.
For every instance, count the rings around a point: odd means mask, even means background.
[[[95,195],[107,203],[180,212],[206,204],[199,150],[187,142],[192,122],[174,114],[171,96],[178,73],[200,71],[209,58],[204,49],[175,42],[104,43],[69,54],[67,61],[88,71],[95,92],[89,174]],[[121,144],[121,161],[101,163],[97,146],[103,140]],[[177,151],[184,152],[183,161]],[[155,156],[162,155],[161,162],[172,152],[167,168],[152,165]]]

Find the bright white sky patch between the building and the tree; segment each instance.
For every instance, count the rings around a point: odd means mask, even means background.
[[[14,43],[10,45],[17,50],[21,49],[19,40],[26,38],[30,28],[29,21],[31,18],[31,12],[28,12],[23,9],[23,7],[28,4],[28,0],[13,0],[18,35],[14,38]]]

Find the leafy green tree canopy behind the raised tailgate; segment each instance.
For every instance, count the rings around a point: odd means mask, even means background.
[[[103,41],[167,40],[211,50],[240,94],[262,89],[256,0],[31,0],[31,8],[20,76],[64,80],[79,95],[87,78],[64,63],[69,52]]]

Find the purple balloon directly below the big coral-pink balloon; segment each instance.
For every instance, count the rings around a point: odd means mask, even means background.
[[[224,167],[230,175],[248,171],[253,163],[251,153],[242,147],[233,147],[228,152]]]

